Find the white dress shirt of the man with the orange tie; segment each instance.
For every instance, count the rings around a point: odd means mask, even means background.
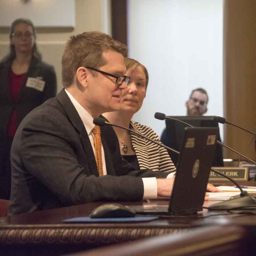
[[[93,123],[92,116],[75,100],[75,98],[65,89],[66,94],[69,96],[71,102],[73,103],[76,111],[78,112],[84,126],[86,132],[89,136],[92,149],[95,155],[95,147],[94,147],[94,135],[92,133],[92,129],[95,124]],[[102,155],[102,167],[103,167],[103,175],[107,175],[106,161],[103,146],[101,145],[101,155]],[[174,172],[170,173],[167,178],[172,178]],[[155,177],[150,178],[142,178],[143,186],[144,186],[144,194],[143,199],[155,199],[157,198],[157,182]]]

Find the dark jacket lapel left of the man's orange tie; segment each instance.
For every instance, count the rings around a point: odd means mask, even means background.
[[[76,111],[73,103],[70,101],[70,98],[66,94],[64,89],[59,92],[59,94],[57,95],[57,99],[64,108],[73,127],[80,135],[91,175],[98,176],[97,164],[95,161],[95,156],[92,150],[91,142],[78,112]]]

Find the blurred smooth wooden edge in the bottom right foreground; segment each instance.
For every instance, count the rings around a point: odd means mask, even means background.
[[[187,233],[177,235],[155,236],[140,241],[126,242],[121,245],[111,245],[70,256],[144,256],[144,255],[225,255],[224,252],[237,250],[246,252],[249,232],[237,226],[211,226],[197,228]],[[203,254],[202,254],[203,252]]]

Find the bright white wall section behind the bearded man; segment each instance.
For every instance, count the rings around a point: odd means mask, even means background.
[[[135,121],[160,135],[165,123],[154,113],[186,115],[196,87],[209,94],[207,115],[223,116],[222,0],[128,0],[128,49],[149,71]]]

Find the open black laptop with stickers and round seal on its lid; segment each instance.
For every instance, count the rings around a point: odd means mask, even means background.
[[[137,214],[191,215],[203,209],[217,127],[186,127],[168,206],[129,206]]]

